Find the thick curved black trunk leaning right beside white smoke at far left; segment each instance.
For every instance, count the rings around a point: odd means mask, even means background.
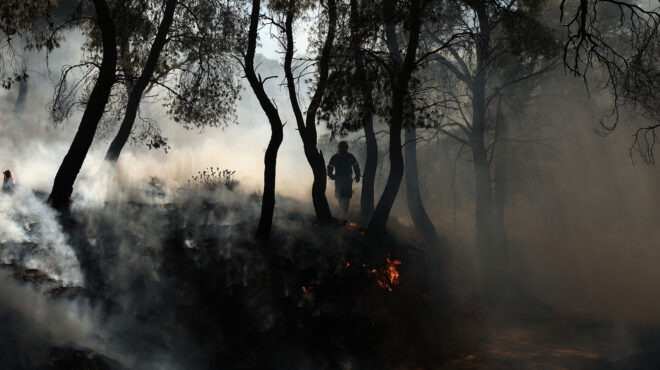
[[[48,203],[55,209],[64,209],[69,205],[73,193],[73,184],[85,161],[89,147],[92,145],[96,128],[103,116],[112,85],[115,82],[117,49],[112,16],[105,0],[93,0],[93,3],[96,9],[96,23],[101,30],[103,40],[103,57],[99,68],[99,76],[89,95],[80,126],[57,171],[53,189],[48,197]]]

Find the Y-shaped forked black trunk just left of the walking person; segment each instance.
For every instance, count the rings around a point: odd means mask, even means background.
[[[296,117],[296,124],[300,133],[300,138],[303,142],[305,150],[305,157],[307,162],[312,168],[314,175],[314,182],[312,183],[312,202],[314,204],[314,212],[316,218],[321,223],[330,223],[333,220],[332,213],[330,212],[330,205],[328,198],[325,196],[327,186],[327,172],[325,167],[325,159],[323,153],[320,152],[316,146],[316,112],[321,105],[321,99],[325,93],[328,85],[328,71],[330,68],[330,57],[332,52],[332,44],[335,38],[337,29],[337,3],[336,0],[328,0],[328,33],[326,34],[323,43],[323,49],[318,62],[318,82],[316,91],[312,96],[309,106],[307,107],[306,116],[303,118],[300,105],[298,103],[298,94],[296,91],[296,80],[293,76],[292,62],[293,62],[293,18],[295,15],[295,5],[290,4],[285,20],[285,33],[286,33],[286,54],[284,57],[284,73],[286,75],[287,89],[289,91],[289,100],[291,107]]]

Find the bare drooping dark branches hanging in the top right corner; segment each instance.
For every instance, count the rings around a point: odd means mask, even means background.
[[[635,132],[630,155],[655,163],[660,128],[660,7],[625,0],[562,0],[561,17],[567,34],[565,68],[585,83],[593,79],[589,71],[605,72],[601,76],[614,100],[610,114],[601,119],[603,132],[616,129],[621,106],[638,108],[652,123]]]

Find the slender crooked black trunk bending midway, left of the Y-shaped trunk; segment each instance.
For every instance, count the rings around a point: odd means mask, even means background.
[[[250,14],[250,29],[248,31],[248,47],[245,53],[243,69],[250,87],[257,96],[268,122],[270,124],[271,136],[264,156],[264,193],[261,201],[261,216],[257,226],[257,238],[267,242],[270,238],[273,226],[273,212],[275,209],[275,174],[277,165],[277,152],[282,144],[284,130],[282,120],[275,105],[266,94],[261,76],[254,70],[254,54],[257,48],[257,36],[259,32],[260,0],[252,0],[252,12]]]

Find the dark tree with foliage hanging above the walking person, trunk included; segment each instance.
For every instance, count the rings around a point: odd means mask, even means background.
[[[379,79],[384,78],[380,64],[370,57],[379,44],[380,9],[377,3],[350,0],[340,6],[339,27],[331,60],[328,87],[319,109],[319,121],[325,122],[331,137],[362,130],[366,150],[360,215],[368,222],[374,210],[374,186],[378,169],[378,142],[374,116],[380,104]]]

